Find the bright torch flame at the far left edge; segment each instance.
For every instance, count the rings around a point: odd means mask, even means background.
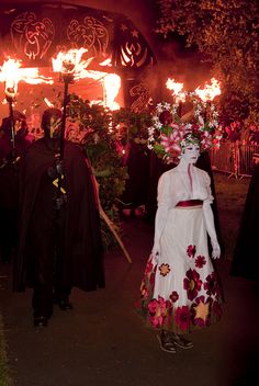
[[[4,91],[7,96],[15,96],[19,81],[24,81],[30,84],[53,84],[52,78],[45,78],[38,75],[38,68],[21,68],[21,60],[9,58],[0,67],[0,81],[5,82]]]

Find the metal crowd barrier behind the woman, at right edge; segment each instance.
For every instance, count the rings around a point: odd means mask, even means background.
[[[236,179],[250,177],[258,158],[259,145],[243,145],[239,141],[225,140],[218,150],[211,150],[212,168]]]

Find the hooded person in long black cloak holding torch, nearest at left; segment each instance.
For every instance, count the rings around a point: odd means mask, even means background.
[[[47,325],[53,304],[63,310],[72,308],[72,286],[82,291],[104,287],[91,169],[82,149],[66,140],[64,159],[59,159],[60,125],[61,112],[46,110],[42,118],[44,137],[30,147],[21,163],[14,291],[33,287],[35,326]]]

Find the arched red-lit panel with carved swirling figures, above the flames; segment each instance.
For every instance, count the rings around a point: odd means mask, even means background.
[[[155,61],[144,36],[124,15],[55,2],[0,4],[0,44],[2,54],[15,55],[26,66],[49,66],[60,48],[80,47],[89,49],[97,66],[108,58],[121,69]]]

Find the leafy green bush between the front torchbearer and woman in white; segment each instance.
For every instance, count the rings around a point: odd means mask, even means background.
[[[126,109],[112,112],[102,105],[90,105],[89,101],[71,94],[67,121],[67,137],[85,147],[99,184],[102,208],[120,234],[117,204],[128,178],[124,155],[120,149],[131,140],[145,143],[150,116],[148,113],[135,114]],[[103,220],[102,236],[106,247],[115,243]]]

